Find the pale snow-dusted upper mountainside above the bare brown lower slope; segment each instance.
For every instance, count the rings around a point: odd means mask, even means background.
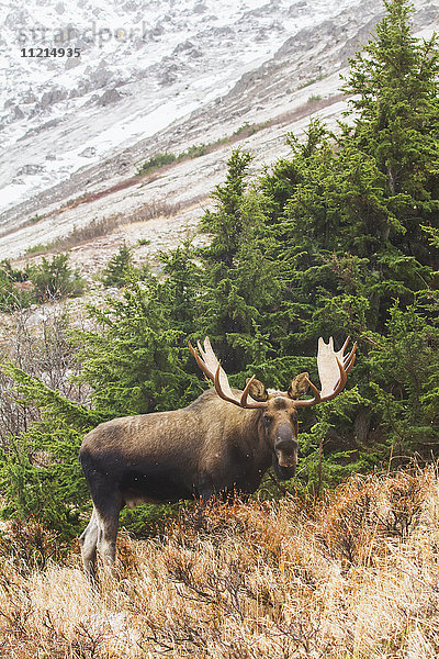
[[[224,97],[294,34],[358,4],[7,0],[0,211]],[[38,46],[80,57],[21,57]]]

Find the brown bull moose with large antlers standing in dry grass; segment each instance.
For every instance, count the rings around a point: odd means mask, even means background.
[[[204,348],[189,344],[214,389],[182,410],[113,418],[83,438],[79,460],[93,501],[80,537],[86,570],[93,573],[97,548],[104,565],[114,562],[125,505],[250,494],[271,465],[280,479],[291,478],[297,462],[297,410],[328,401],[345,388],[357,348],[345,355],[348,342],[335,351],[333,338],[328,344],[319,339],[322,391],[304,372],[284,392],[266,389],[255,376],[244,391],[232,389],[209,338]],[[308,388],[313,398],[299,400]]]

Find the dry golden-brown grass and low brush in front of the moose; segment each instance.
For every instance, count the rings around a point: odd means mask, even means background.
[[[3,545],[0,656],[434,659],[438,528],[428,468],[353,478],[324,503],[195,509],[151,540],[121,534],[119,578],[99,593],[75,552],[37,569]]]

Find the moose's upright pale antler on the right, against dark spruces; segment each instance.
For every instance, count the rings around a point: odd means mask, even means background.
[[[313,390],[314,398],[307,401],[295,401],[296,407],[311,407],[323,401],[330,401],[345,389],[348,379],[348,372],[356,360],[357,342],[353,344],[351,351],[345,355],[345,350],[350,340],[350,336],[345,340],[342,347],[337,353],[334,350],[334,339],[329,338],[326,344],[324,339],[318,339],[317,351],[317,368],[318,377],[322,382],[322,391],[308,380],[309,387]]]

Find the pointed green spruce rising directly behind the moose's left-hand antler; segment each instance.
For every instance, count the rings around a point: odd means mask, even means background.
[[[270,256],[273,238],[266,228],[269,198],[248,187],[250,160],[249,154],[233,152],[226,182],[213,194],[216,208],[202,221],[211,237],[200,254],[202,324],[232,373],[248,369],[249,356],[260,369],[261,359],[273,353],[282,299],[279,266]]]

